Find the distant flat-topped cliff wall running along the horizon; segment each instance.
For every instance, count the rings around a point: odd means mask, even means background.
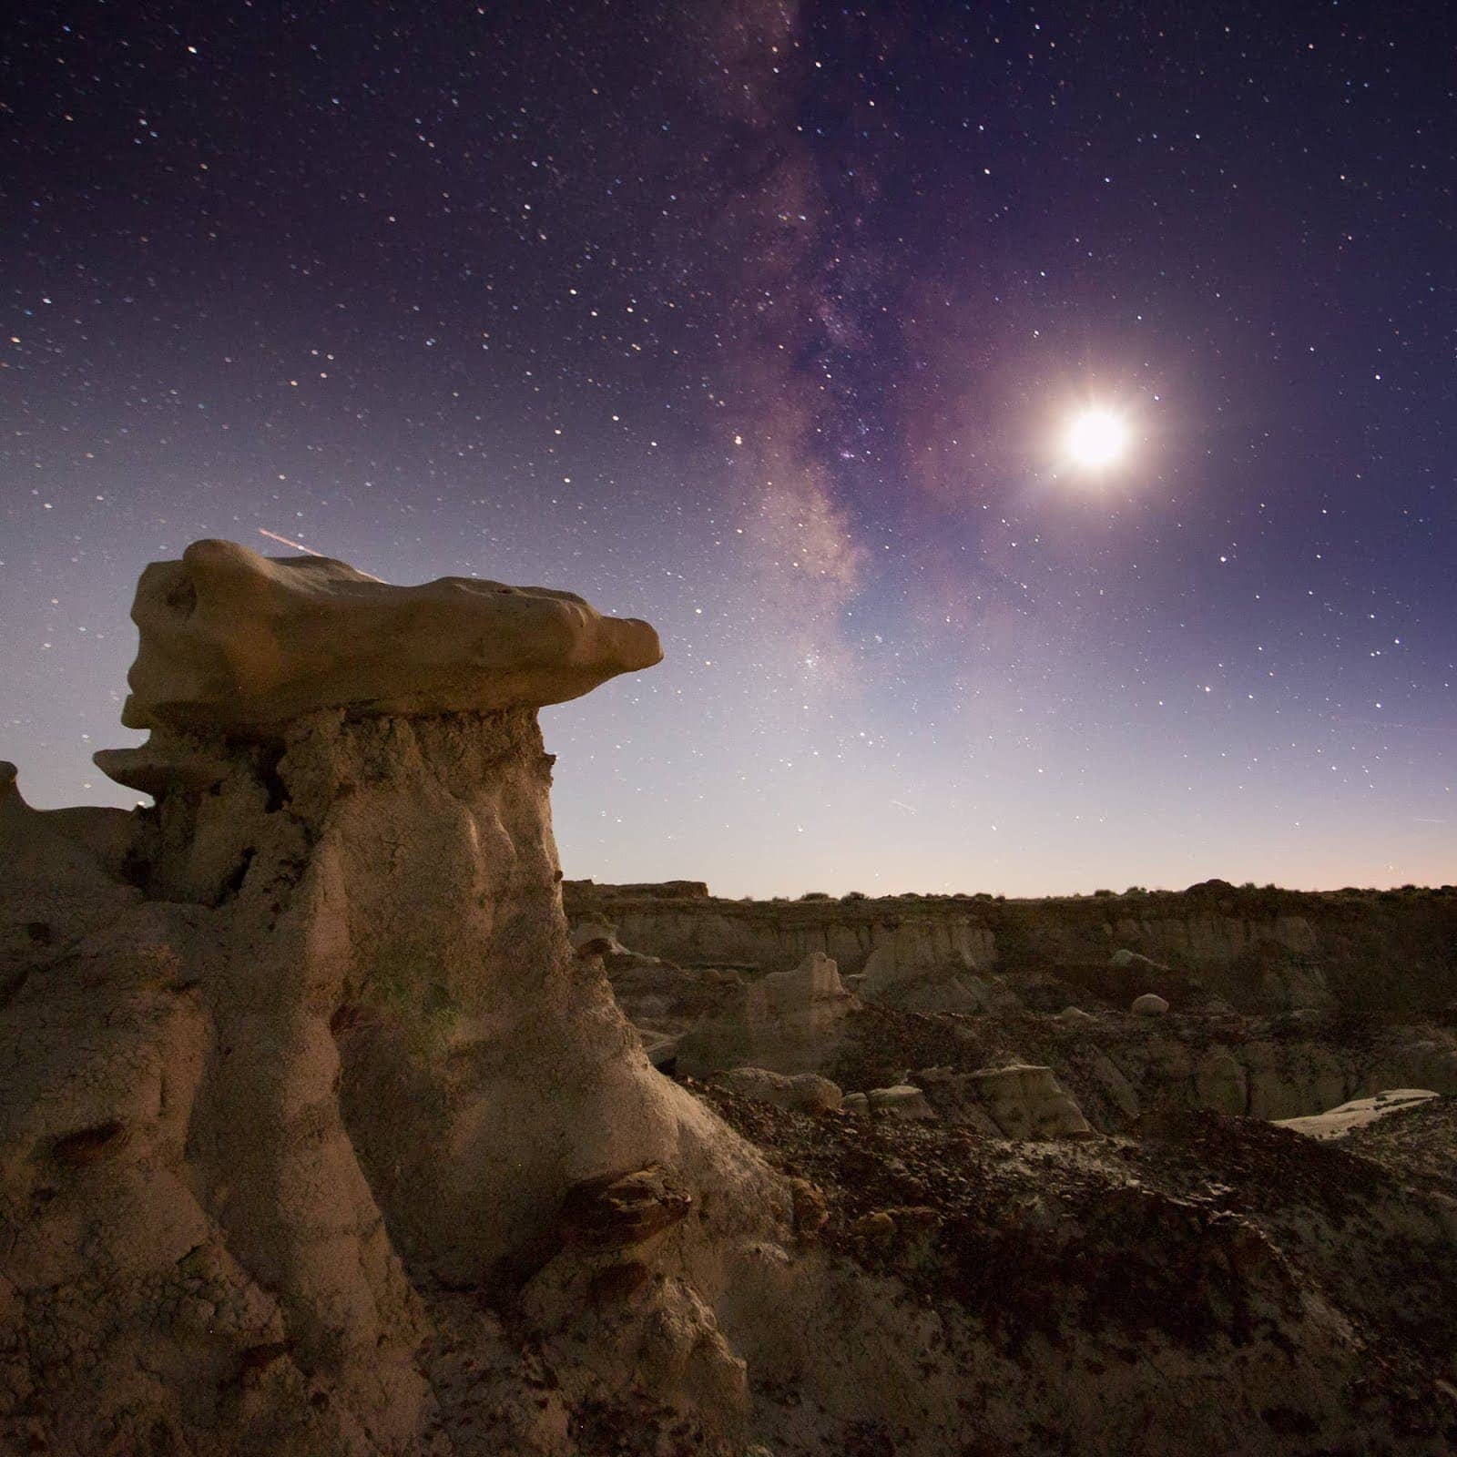
[[[1241,1011],[1437,1011],[1457,998],[1457,892],[1444,890],[1211,883],[1046,900],[723,900],[694,881],[570,881],[567,906],[574,919],[605,918],[632,950],[688,967],[787,970],[823,953],[842,976],[881,981],[1049,970],[1109,982],[1112,957],[1125,951],[1198,976]]]

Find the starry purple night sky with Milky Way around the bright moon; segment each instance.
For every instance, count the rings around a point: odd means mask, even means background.
[[[1457,879],[1447,4],[4,25],[32,803],[136,798],[141,567],[272,532],[659,628],[542,714],[568,876]]]

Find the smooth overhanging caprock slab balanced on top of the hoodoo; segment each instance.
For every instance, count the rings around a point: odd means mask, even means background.
[[[194,542],[137,586],[128,728],[277,737],[306,714],[539,708],[657,663],[657,634],[581,597],[441,577],[392,587],[326,557]]]

